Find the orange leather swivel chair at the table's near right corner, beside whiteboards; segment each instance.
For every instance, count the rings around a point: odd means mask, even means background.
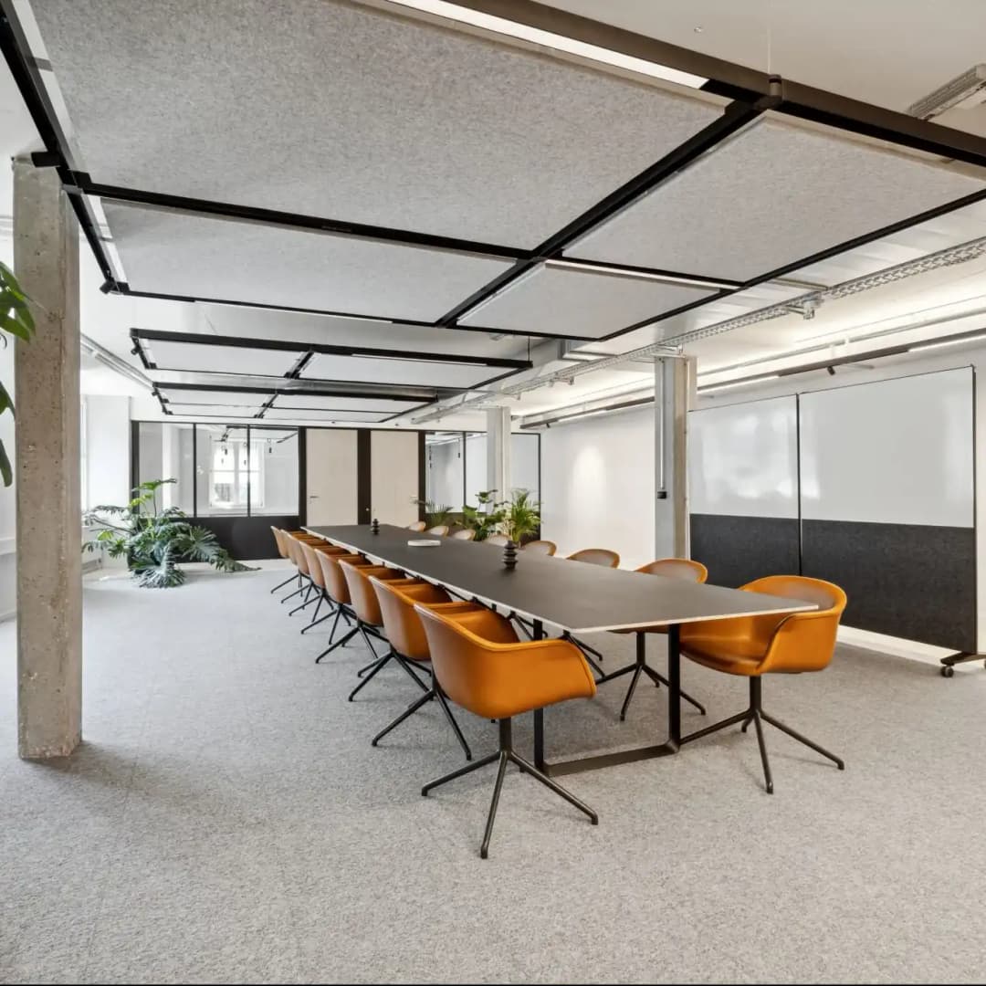
[[[828,667],[835,650],[835,632],[839,626],[839,618],[846,607],[846,594],[830,582],[798,575],[773,575],[740,588],[768,596],[803,599],[814,602],[818,608],[810,612],[780,616],[742,616],[683,624],[681,653],[706,668],[748,677],[749,707],[721,723],[683,737],[681,742],[698,740],[736,723],[742,723],[742,732],[745,733],[746,727],[752,723],[756,728],[768,794],[774,792],[774,781],[770,774],[770,761],[767,759],[761,722],[769,723],[782,733],[787,733],[793,740],[798,740],[827,757],[839,770],[845,770],[845,763],[834,753],[806,739],[763,711],[761,683],[764,674],[798,674]]]

